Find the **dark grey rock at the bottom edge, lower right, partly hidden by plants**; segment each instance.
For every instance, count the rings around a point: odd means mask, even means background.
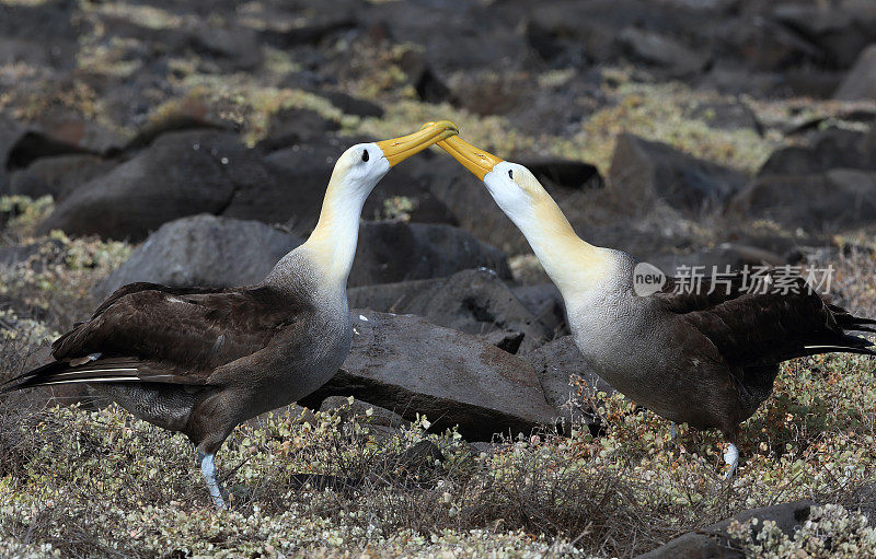
[[[657,549],[639,555],[637,559],[742,559],[746,555],[741,551],[740,543],[727,537],[726,531],[730,522],[758,519],[760,522],[752,526],[752,537],[757,537],[763,529],[763,521],[769,520],[775,522],[782,532],[791,536],[806,522],[809,510],[816,504],[812,501],[802,500],[740,512],[733,519],[691,532]]]

